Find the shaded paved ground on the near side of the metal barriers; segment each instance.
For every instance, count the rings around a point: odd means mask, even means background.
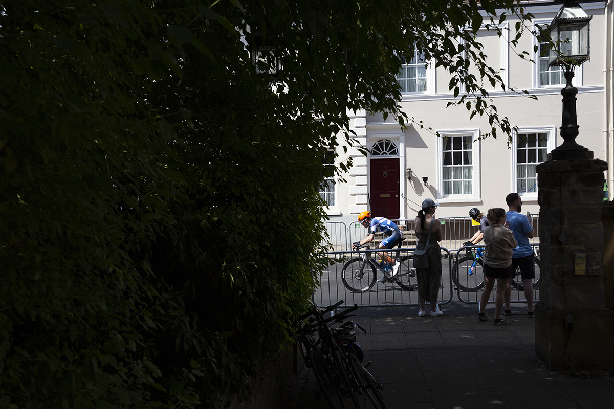
[[[513,304],[509,324],[477,319],[476,305],[441,306],[443,315],[418,317],[417,307],[361,308],[351,318],[367,329],[357,343],[363,364],[384,384],[387,409],[614,408],[614,372],[552,372],[535,353],[534,318]],[[288,409],[328,408],[313,372],[293,380]],[[352,408],[351,402],[347,407]],[[367,402],[363,405],[370,408]]]

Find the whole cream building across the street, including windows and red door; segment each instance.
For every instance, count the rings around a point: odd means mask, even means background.
[[[535,17],[533,23],[540,25],[550,23],[561,8],[561,4],[543,0],[527,1],[527,5],[527,12]],[[612,0],[583,1],[581,6],[593,19],[591,59],[575,70],[573,80],[578,88],[580,126],[576,140],[593,151],[594,158],[608,162],[607,181],[612,188]],[[510,19],[503,28],[513,32],[515,23]],[[488,118],[476,115],[469,120],[465,107],[446,108],[453,101],[446,71],[435,69],[433,63],[426,68],[420,61],[407,64],[397,77],[406,90],[400,104],[409,117],[423,121],[425,128],[409,123],[402,131],[391,117],[384,121],[381,115],[352,113],[351,128],[358,142],[372,154],[365,157],[357,148],[349,150],[353,167],[344,175],[346,182],[336,182],[326,189],[331,221],[349,224],[363,210],[391,219],[413,219],[427,197],[440,204],[438,217],[467,216],[472,207],[486,213],[491,207],[507,209],[505,196],[512,192],[523,197],[523,212],[538,212],[535,165],[545,161],[547,153],[562,143],[559,126],[565,78],[561,69],[548,69],[547,61],[540,63],[538,53],[532,56],[537,64],[519,58],[506,36],[483,29],[481,42],[489,65],[503,69],[502,78],[507,86],[538,97],[535,101],[512,91],[489,89],[489,98],[500,115],[518,127],[513,143],[508,147],[504,135],[480,140],[491,129]],[[527,32],[518,48],[532,52],[535,45],[538,39]],[[435,136],[428,127],[446,138]],[[348,157],[343,156],[343,149],[339,153],[338,161]],[[428,178],[426,182],[424,178]]]

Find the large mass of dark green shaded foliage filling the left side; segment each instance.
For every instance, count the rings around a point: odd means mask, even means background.
[[[316,281],[321,158],[350,109],[403,121],[398,55],[456,3],[4,1],[0,408],[245,397]]]

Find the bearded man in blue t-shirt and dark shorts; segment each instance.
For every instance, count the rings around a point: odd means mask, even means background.
[[[511,256],[511,270],[516,273],[520,267],[521,277],[523,279],[524,297],[527,300],[529,308],[529,316],[535,315],[533,307],[533,279],[535,278],[535,264],[533,260],[533,248],[529,243],[529,239],[534,236],[533,218],[529,215],[521,215],[523,210],[523,201],[518,193],[510,193],[505,197],[505,202],[509,207],[507,223],[505,227],[511,229],[514,233],[514,239],[518,242],[518,247],[514,249],[514,254]],[[511,298],[511,280],[508,282],[505,289],[505,315],[511,315],[510,298]]]

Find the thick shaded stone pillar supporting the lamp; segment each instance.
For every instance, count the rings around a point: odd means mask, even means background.
[[[535,350],[552,370],[614,370],[614,312],[604,289],[605,170],[600,159],[537,166],[542,270]]]

